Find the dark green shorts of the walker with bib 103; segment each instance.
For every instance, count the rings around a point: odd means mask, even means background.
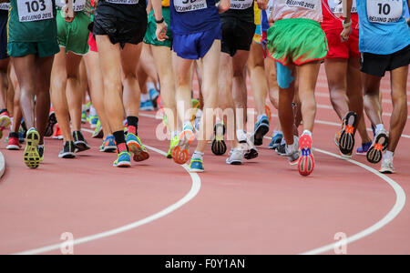
[[[8,55],[12,57],[36,55],[44,58],[56,55],[60,52],[60,47],[56,39],[44,42],[9,42],[7,51]]]

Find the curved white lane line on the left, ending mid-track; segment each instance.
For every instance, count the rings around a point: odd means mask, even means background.
[[[88,130],[88,129],[82,129],[86,132],[93,132],[92,130]],[[148,147],[150,150],[159,153],[160,155],[166,156],[167,153],[155,148],[155,147],[149,147],[149,146],[145,146]],[[200,192],[200,176],[196,173],[190,173],[190,168],[187,165],[183,165],[182,166],[189,174],[190,174],[190,178],[192,179],[192,186],[190,187],[190,192],[185,196],[182,197],[181,199],[179,199],[179,201],[175,204],[172,204],[169,207],[166,207],[165,209],[159,211],[158,213],[150,216],[150,217],[146,217],[143,218],[141,220],[138,220],[136,222],[133,222],[131,224],[128,224],[126,226],[123,227],[118,227],[115,229],[111,229],[105,232],[101,232],[95,235],[91,235],[91,236],[87,236],[87,237],[83,237],[83,238],[77,238],[74,240],[73,244],[74,245],[80,245],[80,244],[84,244],[87,242],[91,242],[91,241],[95,241],[97,239],[101,239],[101,238],[108,238],[111,236],[115,236],[118,235],[120,233],[129,231],[131,229],[135,229],[137,227],[141,227],[143,225],[147,225],[150,222],[153,222],[155,220],[158,220],[161,217],[165,217],[167,215],[169,215],[170,213],[174,212],[175,210],[179,209],[179,207],[184,206],[185,204],[187,204],[188,202],[190,202],[190,200],[192,200],[194,197],[196,197],[198,195],[198,193]],[[49,251],[53,251],[53,250],[57,250],[61,248],[61,243],[59,244],[55,244],[55,245],[51,245],[51,246],[47,246],[44,248],[36,248],[36,249],[31,249],[31,250],[27,250],[24,252],[19,252],[19,253],[15,253],[15,255],[35,255],[35,254],[40,254],[40,253],[45,253],[45,252],[49,252]]]

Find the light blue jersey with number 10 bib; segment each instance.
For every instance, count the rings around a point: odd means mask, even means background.
[[[356,0],[360,52],[389,55],[410,45],[406,0]]]

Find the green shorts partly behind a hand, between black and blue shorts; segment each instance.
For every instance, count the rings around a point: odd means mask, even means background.
[[[172,32],[169,29],[170,11],[169,11],[168,6],[162,7],[162,15],[164,16],[165,22],[168,25],[167,36],[169,36],[169,39],[163,42],[159,42],[159,40],[157,40],[157,35],[156,35],[157,23],[155,23],[154,11],[151,11],[151,13],[149,14],[149,23],[147,26],[147,32],[144,37],[144,43],[149,44],[149,45],[156,45],[156,46],[168,46],[170,48],[172,46]]]

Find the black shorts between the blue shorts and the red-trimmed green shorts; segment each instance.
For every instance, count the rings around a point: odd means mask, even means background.
[[[256,25],[244,22],[236,17],[221,17],[222,45],[221,51],[234,56],[238,50],[251,49]]]

